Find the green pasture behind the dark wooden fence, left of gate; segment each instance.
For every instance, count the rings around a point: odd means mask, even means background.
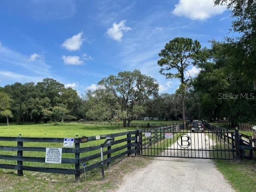
[[[57,138],[75,138],[82,136],[95,136],[95,135],[106,135],[111,133],[120,133],[126,131],[132,131],[134,129],[130,128],[118,128],[108,125],[85,125],[85,124],[75,124],[75,123],[65,123],[61,125],[51,125],[51,124],[31,124],[31,125],[9,125],[9,126],[0,126],[0,136],[6,137],[18,137],[19,134],[22,134],[22,137],[57,137]],[[116,141],[119,139],[125,138],[126,135],[116,137]],[[88,143],[81,143],[80,148],[87,146],[95,146],[104,143],[104,139],[97,141],[90,141]],[[122,146],[126,142],[116,144],[112,146],[116,148]],[[24,146],[33,146],[33,147],[62,147],[63,143],[37,143],[37,142],[24,142]],[[17,142],[6,142],[0,141],[0,146],[17,146]],[[106,150],[106,148],[104,148]],[[126,148],[115,152],[112,156],[124,152]],[[84,156],[90,156],[92,154],[100,153],[100,150],[94,150],[90,152],[84,152],[80,154],[80,158]],[[0,151],[0,154],[4,155],[13,155],[16,156],[16,151]],[[36,152],[36,151],[24,151],[23,156],[30,157],[45,157],[45,152]],[[62,158],[74,158],[75,154],[62,153]],[[106,156],[104,156],[106,158]],[[87,166],[100,162],[100,158],[95,158],[86,162]],[[0,160],[2,164],[16,164],[14,160]],[[39,167],[51,167],[51,168],[70,168],[74,169],[74,164],[46,164],[40,162],[23,162],[25,166],[39,166]]]

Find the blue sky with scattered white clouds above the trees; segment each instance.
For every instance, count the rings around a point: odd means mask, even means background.
[[[157,65],[164,45],[188,37],[210,47],[234,36],[231,22],[212,0],[1,0],[0,86],[49,77],[84,94],[103,77],[140,69],[160,93],[174,93],[179,81]]]

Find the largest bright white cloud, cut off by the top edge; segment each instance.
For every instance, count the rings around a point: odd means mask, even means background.
[[[213,0],[179,0],[172,13],[192,20],[205,20],[222,14],[225,10],[224,5],[214,6]]]

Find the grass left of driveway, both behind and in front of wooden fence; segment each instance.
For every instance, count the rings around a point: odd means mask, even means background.
[[[84,125],[84,124],[75,124],[75,123],[65,123],[63,125],[50,125],[50,124],[29,124],[29,125],[10,125],[5,126],[4,124],[0,125],[0,136],[10,136],[10,137],[18,137],[19,134],[22,134],[22,137],[58,137],[58,138],[74,138],[76,135],[78,137],[82,136],[94,136],[94,135],[106,135],[111,133],[120,133],[124,131],[132,131],[134,129],[130,128],[118,128],[114,126],[106,126],[106,125]],[[116,137],[116,140],[123,139],[126,136]],[[97,140],[88,143],[80,144],[80,147],[85,146],[94,146],[104,143],[104,140]],[[112,148],[122,146],[126,144],[120,143],[112,146]],[[17,146],[17,142],[4,142],[0,141],[0,146]],[[62,143],[31,143],[24,142],[24,146],[38,146],[38,147],[62,147]],[[125,151],[126,149],[120,150],[112,154],[112,156]],[[95,150],[92,152],[82,153],[80,157],[88,156],[91,154],[95,154],[100,152],[100,150]],[[0,151],[0,154],[5,155],[17,155],[15,151]],[[32,151],[24,151],[23,156],[36,156],[36,157],[44,157],[45,152],[32,152]],[[74,158],[74,154],[63,153],[62,158]],[[106,156],[104,156],[106,158]],[[132,159],[140,159],[140,158],[132,158]],[[100,158],[96,158],[94,160],[90,160],[86,162],[88,166],[99,162]],[[145,160],[146,161],[146,160]],[[112,165],[119,163],[120,159],[117,159]],[[135,160],[134,160],[135,162]],[[12,160],[0,160],[2,164],[17,164],[16,161]],[[132,166],[132,160],[126,160],[122,164],[123,172],[127,172]],[[54,167],[54,168],[74,168],[73,164],[45,164],[40,162],[23,162],[25,166],[41,166],[41,167]],[[137,165],[143,165],[143,162],[137,162]],[[114,166],[116,167],[116,166]],[[119,168],[116,167],[115,170]],[[122,169],[122,167],[121,167]],[[106,178],[108,178],[108,171],[106,172]],[[122,170],[120,170],[122,171]],[[120,177],[122,174],[120,174]],[[81,175],[83,178],[83,176]],[[50,173],[40,173],[40,172],[29,172],[24,171],[23,177],[17,176],[16,170],[6,170],[0,169],[0,192],[55,192],[55,191],[68,191],[68,192],[76,192],[78,190],[84,191],[84,186],[88,191],[107,191],[110,188],[113,188],[115,184],[114,179],[110,176],[108,181],[101,181],[101,170],[96,168],[87,173],[88,183],[82,179],[81,184],[74,184],[74,176],[73,175],[63,175],[63,174],[50,174]],[[97,185],[95,185],[97,183]],[[96,189],[97,190],[94,190]],[[4,190],[2,190],[4,189]],[[89,190],[90,189],[90,190]],[[85,190],[85,191],[87,191]]]

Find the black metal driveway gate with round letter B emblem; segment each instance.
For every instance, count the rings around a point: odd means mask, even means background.
[[[234,159],[234,133],[206,124],[142,129],[142,156]]]

